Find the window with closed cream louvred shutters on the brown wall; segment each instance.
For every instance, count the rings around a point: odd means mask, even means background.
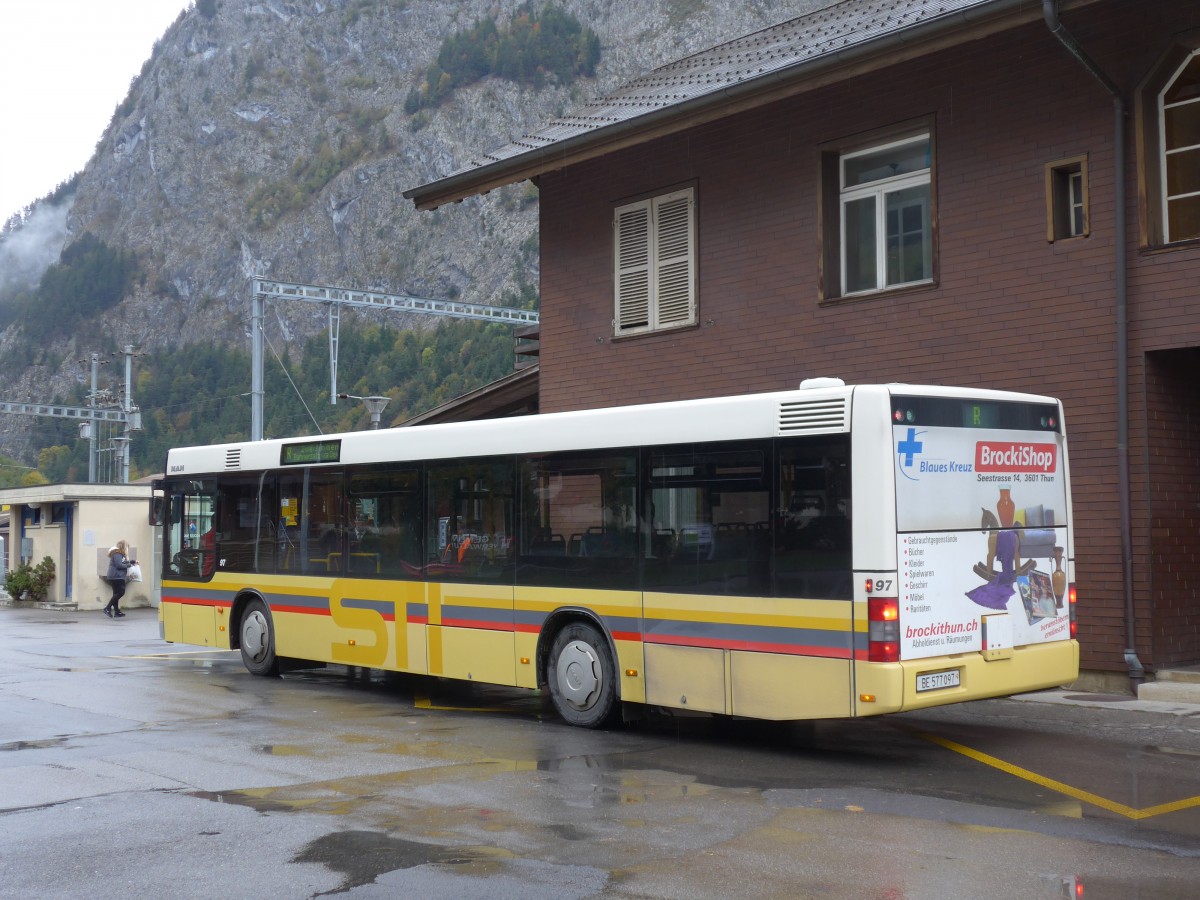
[[[614,335],[696,324],[694,188],[619,206],[613,257]]]

